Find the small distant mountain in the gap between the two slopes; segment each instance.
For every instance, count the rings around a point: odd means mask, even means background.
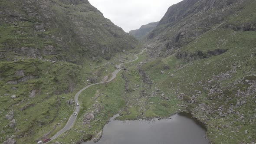
[[[142,39],[147,33],[153,30],[159,22],[148,23],[147,25],[142,25],[141,28],[136,30],[131,30],[129,33],[137,39]]]

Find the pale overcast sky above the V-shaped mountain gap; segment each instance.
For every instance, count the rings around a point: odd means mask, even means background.
[[[104,16],[125,32],[157,22],[167,9],[181,0],[89,0]]]

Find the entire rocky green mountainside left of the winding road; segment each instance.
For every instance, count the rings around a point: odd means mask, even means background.
[[[75,92],[133,59],[138,46],[87,0],[1,0],[0,143],[59,131]]]

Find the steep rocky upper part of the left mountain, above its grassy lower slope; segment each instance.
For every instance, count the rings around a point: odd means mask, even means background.
[[[17,55],[80,63],[110,59],[138,42],[87,0],[2,0],[0,58]]]

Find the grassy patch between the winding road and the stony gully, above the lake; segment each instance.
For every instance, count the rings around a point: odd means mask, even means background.
[[[124,87],[125,82],[120,74],[113,82],[105,85],[95,85],[82,92],[79,96],[81,109],[78,120],[70,131],[67,131],[65,137],[59,137],[56,141],[77,141],[79,139],[88,139],[91,135],[101,131],[108,119],[117,114],[125,105]],[[84,115],[93,113],[94,121],[89,124],[84,123]],[[82,132],[81,132],[82,131]]]

